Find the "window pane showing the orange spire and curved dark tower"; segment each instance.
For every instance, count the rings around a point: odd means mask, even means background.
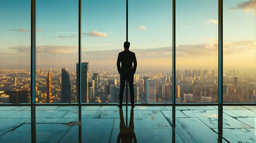
[[[37,0],[36,7],[36,102],[75,103],[78,0]]]

